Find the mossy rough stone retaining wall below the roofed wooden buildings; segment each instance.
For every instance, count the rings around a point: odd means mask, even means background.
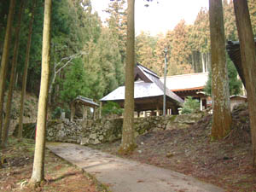
[[[201,119],[203,113],[147,117],[134,119],[135,136],[148,131],[183,129]],[[48,141],[79,143],[82,145],[109,143],[121,138],[123,119],[58,120],[49,122]]]

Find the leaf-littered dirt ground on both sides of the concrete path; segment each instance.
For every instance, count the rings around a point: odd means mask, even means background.
[[[137,137],[131,160],[181,172],[215,184],[226,191],[256,191],[256,170],[252,167],[252,145],[247,108],[232,113],[232,131],[222,141],[211,141],[211,115],[188,129],[148,132]],[[120,142],[94,148],[117,154]],[[46,150],[44,186],[27,189],[32,175],[34,141],[18,143],[9,139],[9,147],[0,150],[0,191],[106,191],[78,168]]]

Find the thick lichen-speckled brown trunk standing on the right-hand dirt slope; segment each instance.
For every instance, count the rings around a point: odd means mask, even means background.
[[[230,132],[231,125],[222,0],[209,1],[209,15],[212,51],[212,139],[218,139]]]

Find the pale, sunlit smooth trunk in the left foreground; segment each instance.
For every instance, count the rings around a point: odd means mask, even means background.
[[[44,2],[44,32],[42,49],[42,73],[41,86],[38,102],[37,136],[34,154],[33,171],[30,183],[41,183],[44,181],[44,149],[45,130],[47,118],[47,100],[49,90],[49,61],[50,61],[50,17],[51,0]]]

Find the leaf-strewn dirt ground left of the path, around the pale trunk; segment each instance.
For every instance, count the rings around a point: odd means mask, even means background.
[[[77,167],[61,160],[46,149],[45,183],[37,189],[29,189],[27,183],[32,176],[34,141],[9,139],[8,148],[1,149],[3,168],[0,169],[0,191],[77,191],[98,192],[107,189],[96,179],[82,172]]]

